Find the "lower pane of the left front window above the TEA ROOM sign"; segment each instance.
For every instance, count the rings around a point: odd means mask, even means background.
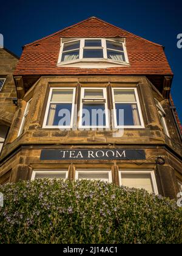
[[[72,104],[50,104],[47,126],[70,126]]]

